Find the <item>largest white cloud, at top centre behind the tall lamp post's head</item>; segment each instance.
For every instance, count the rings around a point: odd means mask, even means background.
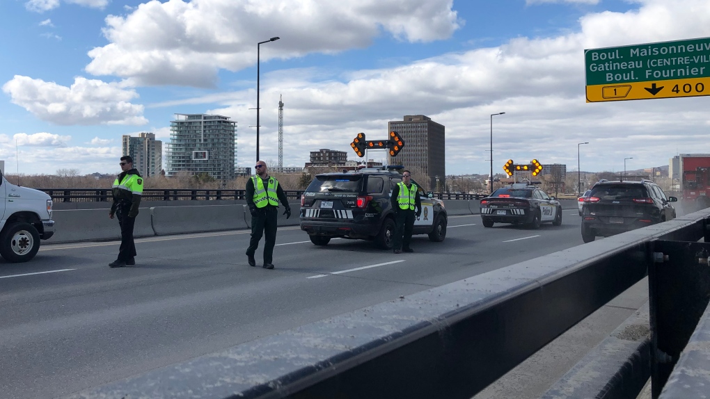
[[[262,62],[366,47],[381,30],[441,40],[460,24],[452,0],[151,1],[106,23],[110,43],[89,51],[87,72],[183,86],[211,86],[219,69],[255,64],[256,43],[275,35],[281,40],[263,46]]]

